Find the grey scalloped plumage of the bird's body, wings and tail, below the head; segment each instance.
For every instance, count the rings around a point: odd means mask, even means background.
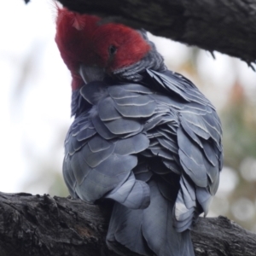
[[[218,189],[222,131],[195,85],[163,70],[74,92],[63,175],[73,197],[116,201],[113,250],[118,242],[143,255],[192,256],[189,229]]]

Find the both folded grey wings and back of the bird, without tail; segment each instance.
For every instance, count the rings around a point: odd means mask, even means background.
[[[92,108],[68,132],[64,177],[71,193],[85,201],[106,197],[143,208],[154,173],[162,195],[176,201],[174,225],[183,231],[207,212],[218,188],[220,121],[189,80],[171,72],[148,70],[148,76],[159,92],[142,84],[93,82],[82,88]]]

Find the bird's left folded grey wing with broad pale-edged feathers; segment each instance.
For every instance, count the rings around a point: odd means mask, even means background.
[[[91,108],[67,133],[63,175],[71,195],[84,201],[105,197],[125,207],[144,208],[149,204],[148,184],[131,171],[137,154],[148,148],[142,117],[154,113],[155,103],[142,85],[125,88],[96,82],[81,89]]]

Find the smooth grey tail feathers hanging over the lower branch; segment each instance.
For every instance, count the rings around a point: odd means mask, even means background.
[[[107,244],[120,255],[135,252],[146,256],[195,256],[190,230],[173,227],[174,202],[167,200],[151,180],[150,205],[130,209],[115,202],[108,228]]]

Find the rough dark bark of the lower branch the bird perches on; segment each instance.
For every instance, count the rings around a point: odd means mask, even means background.
[[[109,204],[0,193],[0,255],[116,256],[105,244],[110,211]],[[249,256],[256,252],[256,234],[224,217],[200,218],[192,239],[197,256]]]

